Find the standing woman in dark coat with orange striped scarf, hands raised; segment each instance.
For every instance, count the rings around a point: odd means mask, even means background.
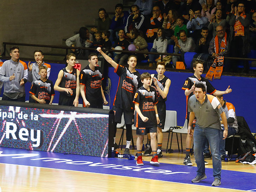
[[[232,57],[246,57],[250,52],[249,25],[250,15],[245,13],[245,5],[239,2],[235,6],[235,14],[232,13],[229,21],[230,27],[230,52]],[[217,31],[217,30],[216,30]],[[242,49],[241,49],[242,48]],[[232,64],[233,72],[236,72],[237,60]],[[244,64],[245,72],[248,72],[248,62]]]

